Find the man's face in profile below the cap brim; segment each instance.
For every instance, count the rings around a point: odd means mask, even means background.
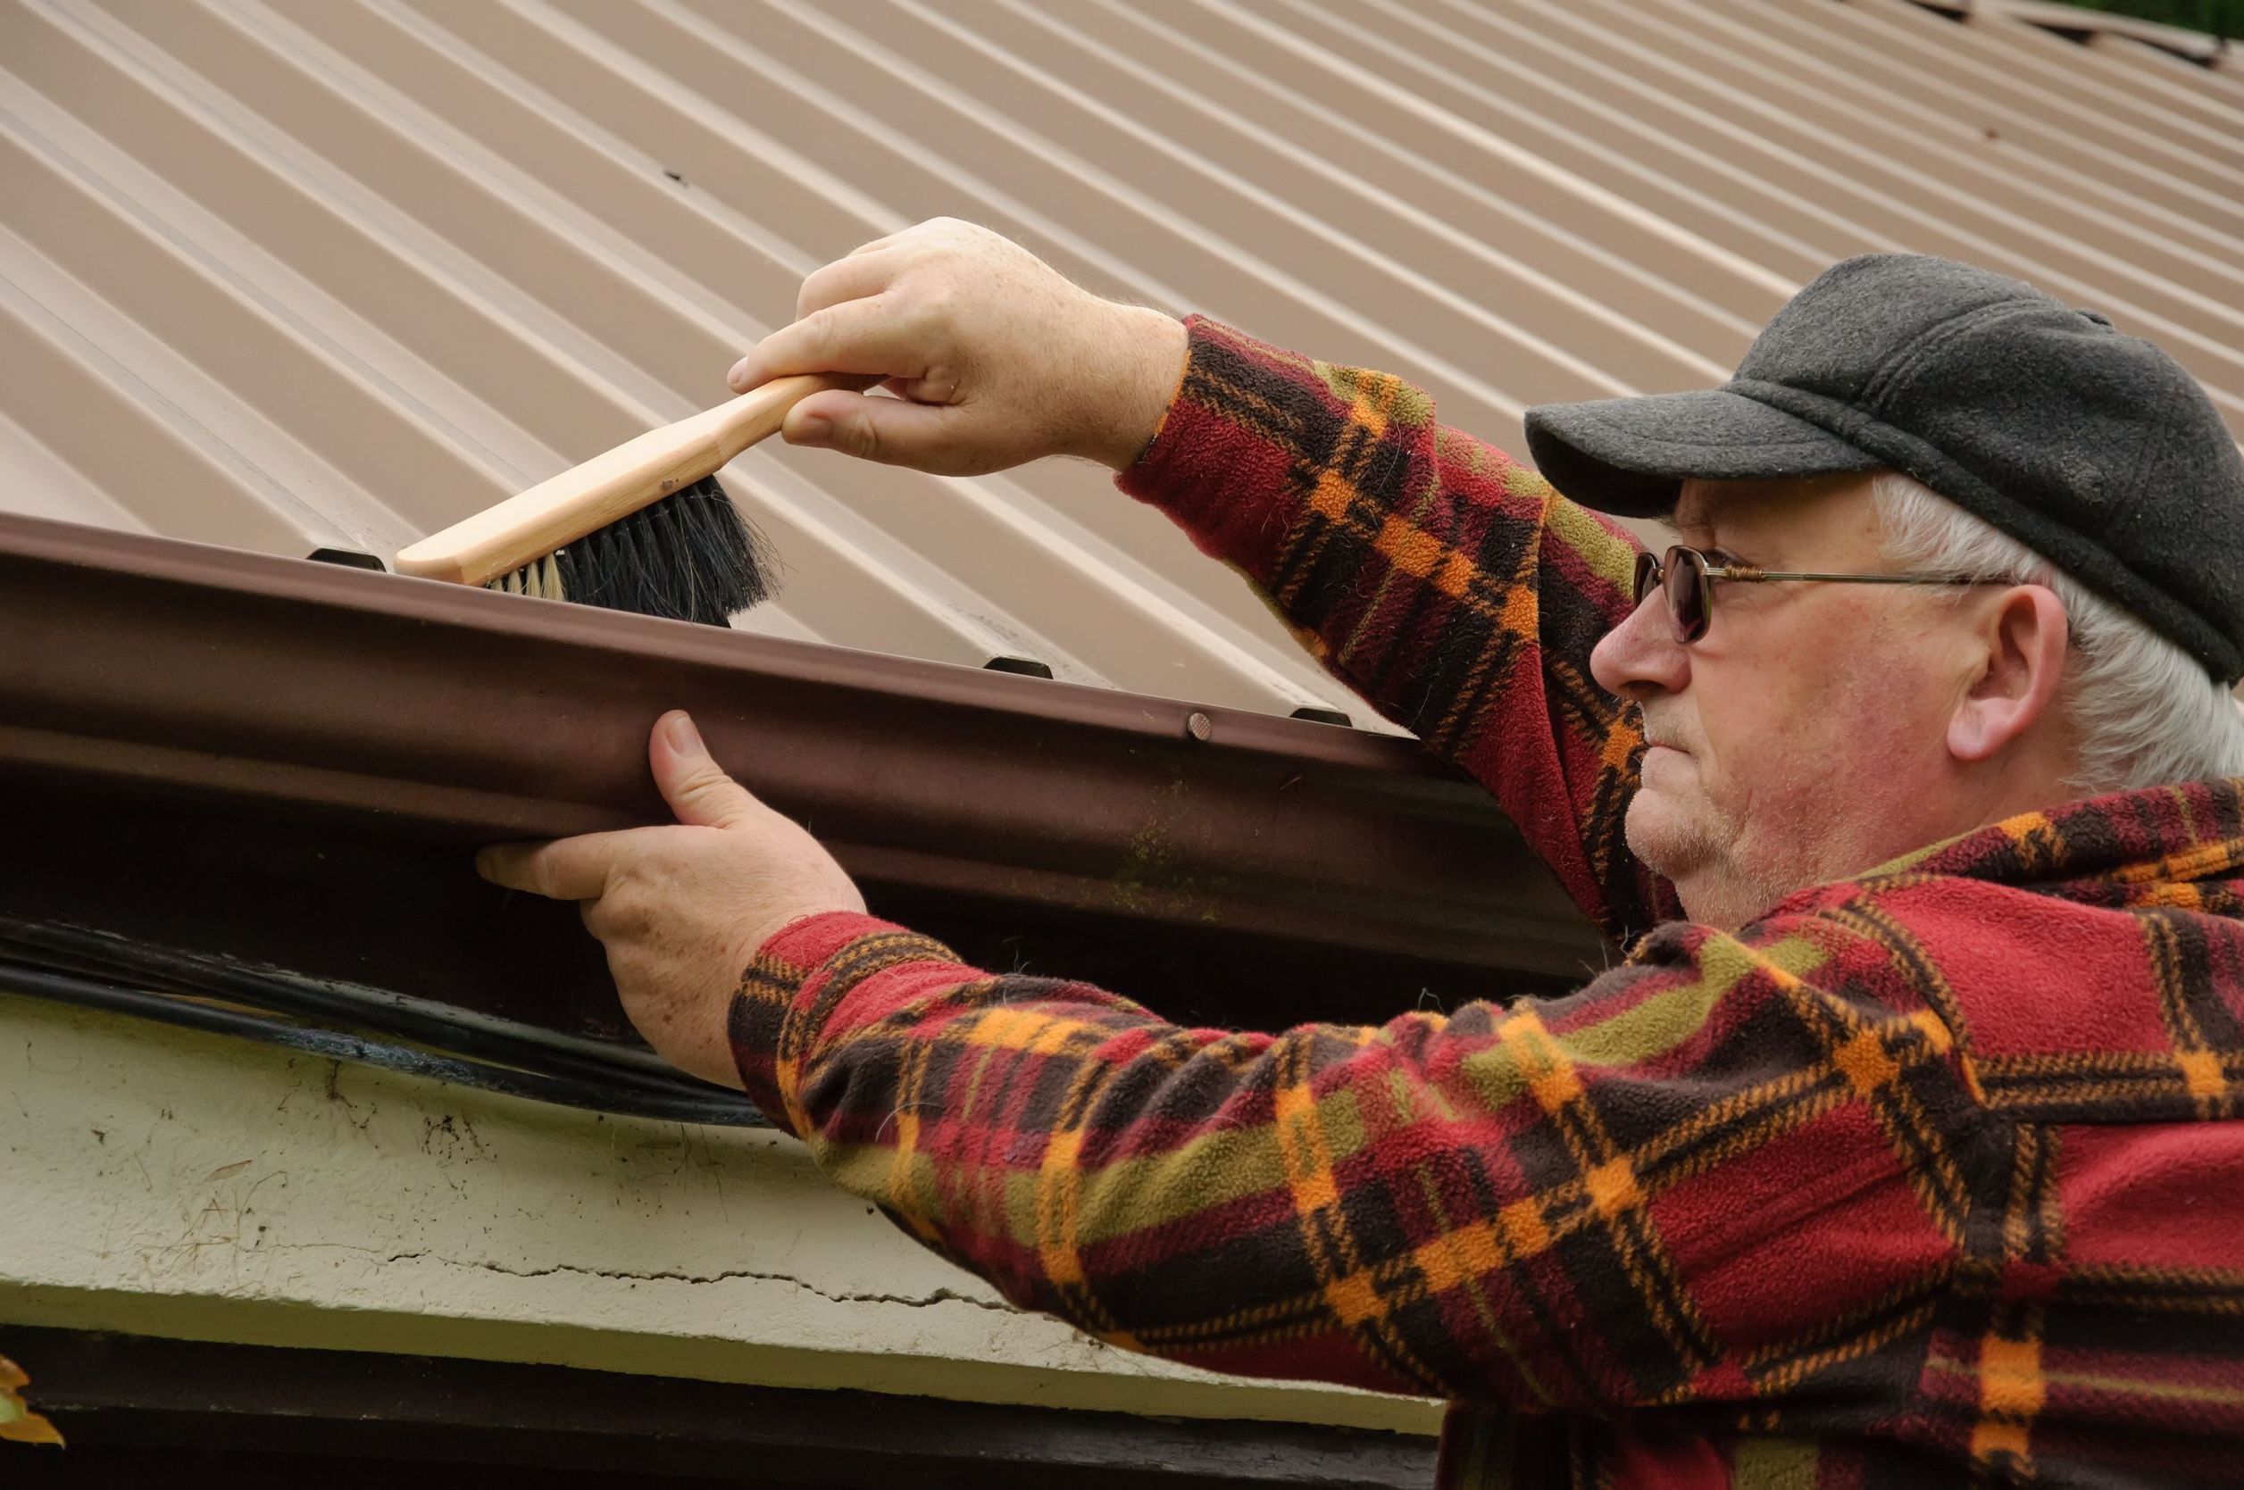
[[[1712,563],[1892,572],[1869,476],[1685,482],[1674,527]],[[1957,590],[1714,581],[1681,644],[1663,595],[1591,657],[1643,705],[1629,848],[1701,922],[1737,927],[1786,893],[1952,830],[1946,718],[1966,687]]]

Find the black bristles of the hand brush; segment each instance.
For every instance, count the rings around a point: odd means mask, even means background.
[[[702,476],[487,588],[727,626],[770,599],[770,565],[763,534]]]

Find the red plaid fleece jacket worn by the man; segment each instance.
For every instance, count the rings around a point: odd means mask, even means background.
[[[1629,958],[1252,1034],[812,918],[734,1046],[828,1176],[1102,1340],[1450,1398],[1443,1486],[2244,1483],[2244,783],[1714,931],[1620,839],[1638,729],[1587,664],[1622,532],[1420,390],[1210,321],[1122,485]]]

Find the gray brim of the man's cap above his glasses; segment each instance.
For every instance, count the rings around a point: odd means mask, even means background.
[[[1887,462],[1744,393],[1703,388],[1528,408],[1528,453],[1560,494],[1627,518],[1674,512],[1685,478],[1777,480]]]

